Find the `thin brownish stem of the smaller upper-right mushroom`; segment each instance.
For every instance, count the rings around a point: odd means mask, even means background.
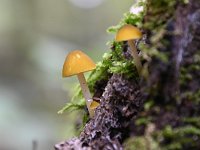
[[[128,40],[128,44],[129,44],[129,46],[131,48],[131,53],[132,53],[132,56],[133,56],[137,71],[141,75],[142,64],[141,64],[140,57],[138,56],[137,49],[135,47],[134,41],[133,40]]]

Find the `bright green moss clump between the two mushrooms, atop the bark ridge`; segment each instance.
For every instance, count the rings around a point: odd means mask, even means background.
[[[110,74],[124,74],[127,77],[138,77],[136,68],[131,60],[125,59],[121,43],[111,42],[113,50],[103,55],[103,60],[97,63],[96,69],[88,78],[88,85],[94,91],[96,81],[107,80]]]

